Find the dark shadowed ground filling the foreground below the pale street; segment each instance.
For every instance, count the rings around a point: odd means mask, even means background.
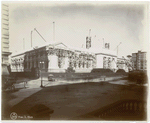
[[[20,116],[27,116],[32,107],[42,104],[48,107],[50,111],[53,111],[52,114],[48,115],[51,120],[146,120],[146,90],[147,87],[145,86],[135,84],[118,85],[107,82],[58,85],[45,87],[13,107],[7,107],[7,101],[9,102],[11,98],[14,98],[11,97],[13,93],[9,94],[9,96],[8,93],[3,93],[3,105],[5,105],[5,107],[3,107],[2,119],[10,119],[10,112],[16,112]],[[139,118],[138,115],[132,116],[130,114],[130,117],[122,117],[121,119],[117,116],[107,118],[97,117],[94,116],[93,113],[90,113],[98,112],[98,109],[100,110],[102,107],[108,108],[110,104],[112,105],[113,103],[123,100],[140,100],[144,102],[144,106],[142,107],[142,111],[144,112],[142,116]],[[90,115],[88,113],[90,113]],[[128,115],[128,113],[125,112],[125,115]],[[18,120],[20,119],[18,118]],[[33,119],[24,118],[24,120]]]

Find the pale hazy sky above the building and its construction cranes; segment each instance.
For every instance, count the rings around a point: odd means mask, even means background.
[[[148,4],[147,4],[148,5]],[[110,4],[102,2],[34,2],[11,3],[10,50],[12,52],[31,47],[31,30],[36,28],[47,42],[63,42],[74,47],[85,47],[86,36],[91,29],[92,47],[110,43],[111,50],[119,46],[119,56],[138,50],[147,50],[147,5]],[[33,46],[45,42],[33,31]]]

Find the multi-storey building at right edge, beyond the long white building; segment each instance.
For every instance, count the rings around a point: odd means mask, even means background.
[[[134,70],[147,70],[146,52],[132,53],[132,62]]]

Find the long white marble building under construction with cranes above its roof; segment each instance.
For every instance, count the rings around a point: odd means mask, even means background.
[[[86,39],[86,49],[70,47],[62,42],[49,43],[13,54],[11,71],[30,72],[33,68],[38,68],[62,73],[68,67],[72,67],[76,73],[91,72],[93,68],[127,71],[125,60],[117,58],[116,52],[109,49],[109,43],[105,43],[105,48],[102,49],[92,49],[90,43]]]

